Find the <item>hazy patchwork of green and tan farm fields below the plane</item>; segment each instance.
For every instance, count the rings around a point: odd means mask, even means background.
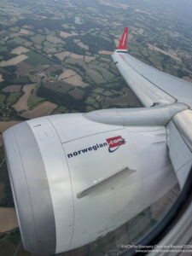
[[[3,207],[8,217],[15,214],[3,131],[43,115],[142,107],[111,59],[125,26],[131,55],[192,82],[191,13],[190,0],[1,1],[0,218]],[[146,230],[157,220],[152,207],[137,221]],[[11,231],[0,227],[3,255],[32,255],[20,246],[17,226],[15,219]],[[104,241],[82,255],[102,255],[108,247]]]

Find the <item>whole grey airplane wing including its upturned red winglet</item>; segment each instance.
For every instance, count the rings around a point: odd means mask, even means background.
[[[131,90],[147,108],[163,105],[169,108],[175,103],[183,105],[183,110],[166,126],[169,156],[182,188],[192,166],[192,84],[129,55],[127,34],[126,27],[112,58]]]

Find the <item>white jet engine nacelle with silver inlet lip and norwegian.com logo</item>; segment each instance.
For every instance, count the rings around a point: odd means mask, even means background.
[[[15,125],[3,142],[22,242],[32,253],[95,241],[177,183],[163,126],[59,114]]]

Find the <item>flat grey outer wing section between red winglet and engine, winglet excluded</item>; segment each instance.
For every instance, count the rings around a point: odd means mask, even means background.
[[[183,102],[192,108],[192,84],[138,61],[127,52],[112,55],[119,72],[144,106]]]

